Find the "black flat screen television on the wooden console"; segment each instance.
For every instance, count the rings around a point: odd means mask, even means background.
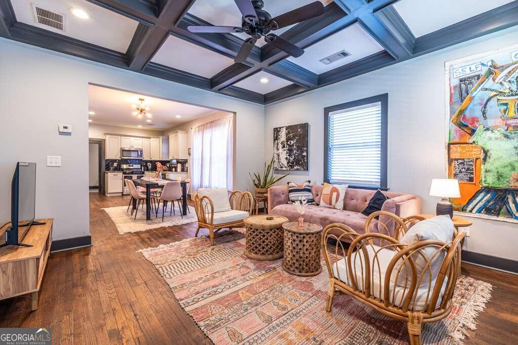
[[[35,222],[36,212],[36,163],[18,162],[11,182],[11,226],[6,231],[8,245],[31,247],[21,243]]]

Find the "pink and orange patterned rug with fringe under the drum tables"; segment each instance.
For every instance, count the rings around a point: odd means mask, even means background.
[[[245,257],[244,235],[225,231],[209,246],[207,237],[142,249],[169,284],[182,308],[215,344],[405,344],[407,325],[357,302],[335,296],[325,312],[328,274],[297,277],[282,259]],[[450,316],[423,327],[423,343],[459,343],[475,328],[491,298],[491,284],[461,276]]]

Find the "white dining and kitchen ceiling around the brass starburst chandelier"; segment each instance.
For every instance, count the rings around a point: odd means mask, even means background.
[[[145,99],[146,106],[149,107],[148,112],[152,114],[151,123],[146,122],[146,118],[139,119],[132,115],[134,109],[131,106],[138,104],[139,98]],[[88,85],[88,109],[95,113],[88,115],[94,124],[130,128],[140,125],[142,129],[153,130],[168,129],[215,111],[95,85]]]

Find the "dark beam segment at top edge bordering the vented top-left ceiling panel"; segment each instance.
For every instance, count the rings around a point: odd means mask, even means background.
[[[140,0],[87,0],[89,3],[104,7],[110,11],[117,12],[124,17],[131,18],[137,22],[154,26],[158,9],[151,3]]]

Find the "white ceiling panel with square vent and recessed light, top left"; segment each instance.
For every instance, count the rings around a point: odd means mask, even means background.
[[[16,19],[19,22],[41,27],[68,37],[97,46],[125,53],[137,28],[138,22],[121,16],[84,0],[35,0],[34,4],[52,12],[64,14],[65,31],[54,29],[35,21],[30,0],[13,0]],[[78,8],[87,12],[89,19],[80,19],[70,12]]]

